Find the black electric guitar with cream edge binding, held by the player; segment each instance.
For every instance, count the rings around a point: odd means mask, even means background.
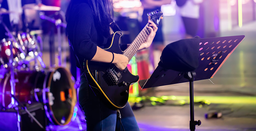
[[[160,19],[163,18],[163,13],[153,11],[148,13],[148,17],[149,20],[158,25]],[[149,23],[145,25],[125,51],[122,51],[119,47],[119,39],[122,36],[120,31],[113,34],[110,47],[104,50],[125,55],[130,61],[149,35],[151,30],[147,28],[148,25]],[[111,109],[120,109],[126,106],[129,87],[139,80],[139,76],[132,75],[127,67],[124,70],[120,70],[114,64],[109,63],[86,61],[86,63],[84,62],[84,70],[94,93]]]

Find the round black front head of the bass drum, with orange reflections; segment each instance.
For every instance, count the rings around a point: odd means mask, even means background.
[[[76,90],[72,75],[65,68],[57,67],[44,80],[43,102],[46,116],[58,125],[69,124],[76,105]]]

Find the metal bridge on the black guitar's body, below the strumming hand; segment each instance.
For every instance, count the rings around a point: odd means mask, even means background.
[[[106,73],[103,74],[103,79],[106,81],[108,86],[113,86],[118,84],[119,76],[117,76],[117,73],[115,70],[107,69]]]

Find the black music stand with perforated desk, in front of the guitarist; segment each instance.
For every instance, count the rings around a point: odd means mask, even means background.
[[[195,125],[200,125],[201,121],[194,120],[194,81],[212,78],[244,38],[245,36],[203,38],[199,43],[199,67],[195,71],[178,72],[157,66],[150,78],[139,80],[139,84],[141,88],[149,88],[189,82],[190,130],[195,131]]]

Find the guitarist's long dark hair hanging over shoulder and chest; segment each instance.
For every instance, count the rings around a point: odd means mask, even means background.
[[[95,26],[99,33],[103,36],[110,36],[110,23],[113,21],[113,4],[112,0],[70,0],[66,11],[66,22],[69,22],[70,12],[74,6],[79,3],[87,3],[92,8],[94,15]]]

